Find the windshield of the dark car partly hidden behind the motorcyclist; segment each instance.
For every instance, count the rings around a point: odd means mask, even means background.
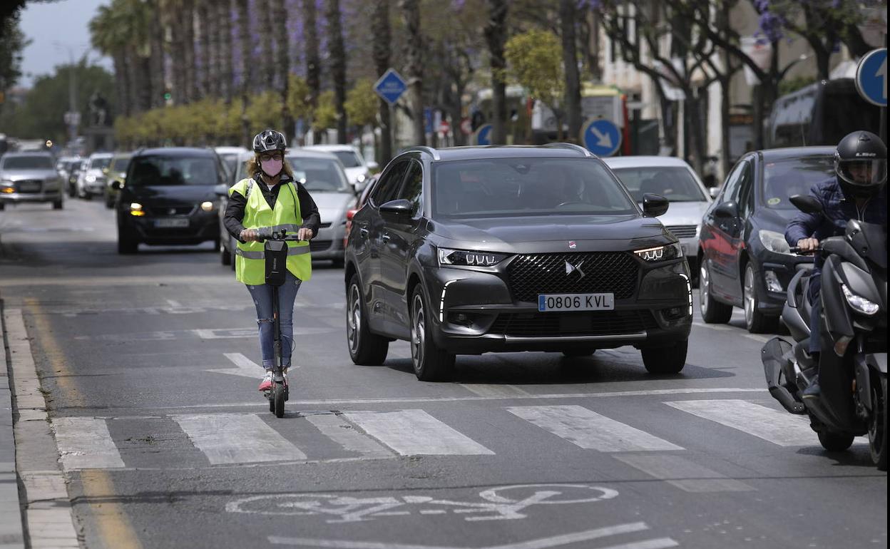
[[[775,210],[797,211],[789,198],[807,195],[816,183],[834,177],[833,157],[801,157],[764,164],[764,204]]]

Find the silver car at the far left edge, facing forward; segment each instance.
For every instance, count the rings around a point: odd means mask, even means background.
[[[22,202],[51,202],[61,210],[63,189],[52,155],[8,152],[0,157],[0,210]]]

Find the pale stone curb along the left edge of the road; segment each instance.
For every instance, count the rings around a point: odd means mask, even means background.
[[[3,312],[4,343],[6,350],[6,377],[16,420],[13,414],[0,418],[0,441],[6,440],[6,417],[12,428],[14,445],[2,444],[0,448],[0,475],[12,466],[12,478],[18,473],[23,490],[19,493],[18,483],[13,482],[16,504],[20,513],[14,517],[18,524],[19,542],[9,547],[33,547],[49,549],[55,547],[79,547],[77,529],[72,514],[71,501],[64,474],[59,464],[59,450],[53,436],[52,424],[46,410],[44,395],[40,392],[40,379],[37,376],[31,344],[20,309],[5,309]],[[2,383],[2,382],[0,382]],[[0,392],[0,408],[3,403]],[[12,453],[14,461],[6,464],[6,453]],[[4,476],[0,476],[4,480]],[[0,490],[7,490],[5,482],[0,482]],[[0,491],[0,505],[7,497]],[[0,513],[0,516],[10,516]],[[22,525],[24,523],[24,526]],[[5,532],[6,521],[0,522],[0,533]],[[4,538],[0,537],[0,548],[5,548]],[[28,543],[26,544],[26,540]]]

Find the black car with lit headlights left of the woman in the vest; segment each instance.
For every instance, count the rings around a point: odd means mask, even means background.
[[[117,200],[117,252],[137,246],[190,245],[207,240],[219,247],[214,186],[226,171],[213,149],[142,149],[127,167]]]

